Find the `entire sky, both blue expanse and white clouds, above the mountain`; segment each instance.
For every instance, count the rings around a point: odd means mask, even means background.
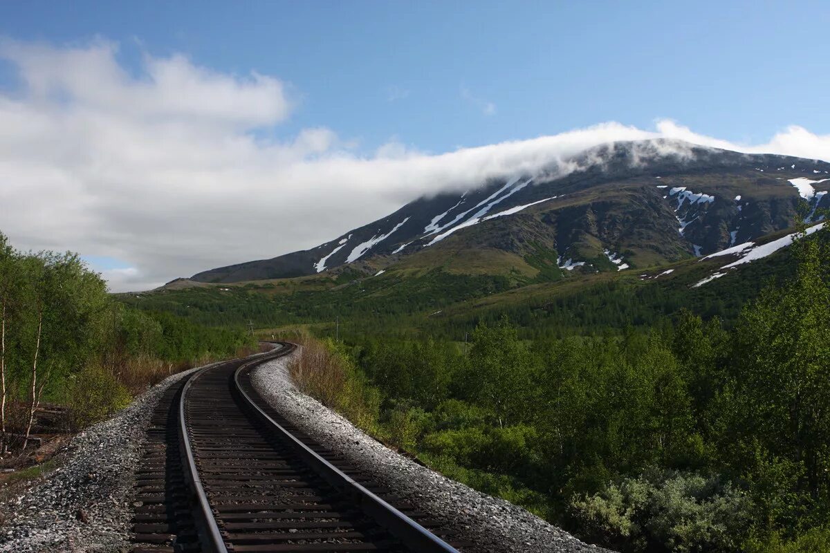
[[[0,230],[147,289],[598,143],[830,161],[828,28],[826,0],[0,2]]]

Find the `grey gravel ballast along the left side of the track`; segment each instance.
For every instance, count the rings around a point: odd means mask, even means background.
[[[77,434],[61,467],[0,505],[0,551],[129,551],[135,468],[168,376],[115,417]]]

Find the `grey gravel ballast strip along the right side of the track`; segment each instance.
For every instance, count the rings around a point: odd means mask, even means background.
[[[476,492],[388,449],[297,390],[287,370],[290,359],[280,357],[251,371],[251,382],[262,398],[312,439],[343,454],[355,468],[393,488],[422,511],[448,521],[458,537],[476,543],[475,551],[608,551],[587,545],[521,507]]]

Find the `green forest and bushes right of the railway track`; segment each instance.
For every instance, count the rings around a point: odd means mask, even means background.
[[[830,254],[725,325],[306,340],[311,395],[450,478],[617,551],[827,551]]]

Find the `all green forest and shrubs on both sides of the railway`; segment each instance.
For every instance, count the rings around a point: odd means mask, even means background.
[[[436,320],[410,332],[387,324],[394,313],[367,308],[342,340],[328,327],[283,336],[305,345],[291,371],[310,395],[390,447],[590,543],[623,553],[825,551],[824,234],[797,240],[788,270],[732,298],[606,283],[541,311],[516,303],[458,326]],[[454,282],[458,298],[484,284]],[[114,297],[77,255],[18,251],[2,235],[0,283],[7,456],[26,449],[41,404],[66,407],[66,429],[81,429],[173,372],[255,346],[238,315],[203,321],[205,309],[165,308],[170,296]],[[272,313],[256,293],[239,293]],[[205,305],[223,313],[226,304]],[[316,318],[315,309],[300,315]]]

